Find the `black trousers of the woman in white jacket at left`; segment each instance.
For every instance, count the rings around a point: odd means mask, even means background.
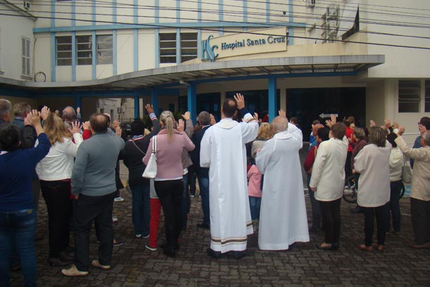
[[[70,181],[40,181],[40,188],[48,209],[49,257],[59,257],[70,240]]]

